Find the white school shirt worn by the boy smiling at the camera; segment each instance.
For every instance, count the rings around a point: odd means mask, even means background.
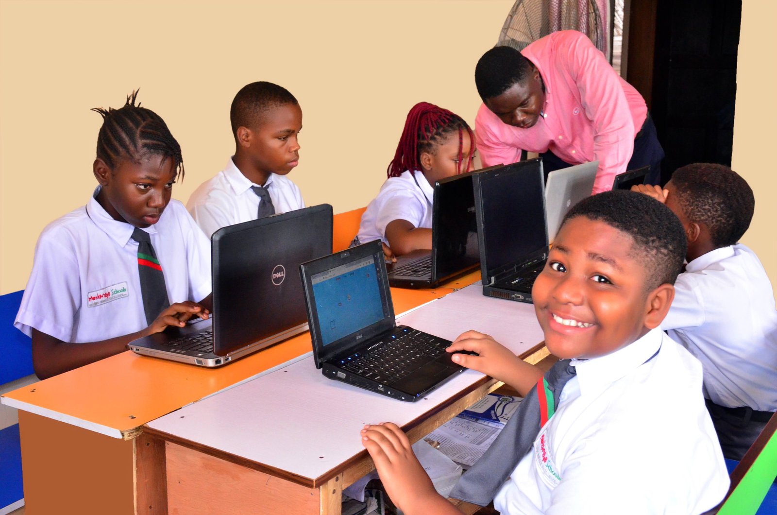
[[[498,511],[688,515],[723,499],[729,476],[688,351],[653,329],[572,365],[577,376],[497,493]]]

